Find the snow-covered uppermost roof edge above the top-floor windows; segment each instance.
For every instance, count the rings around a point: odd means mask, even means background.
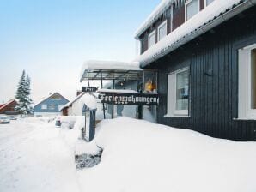
[[[171,4],[178,5],[180,3],[184,3],[185,0],[162,0],[161,3],[153,10],[153,12],[148,16],[148,18],[143,21],[143,24],[137,28],[135,32],[135,38],[138,37],[149,28],[161,15],[162,13],[168,9]]]

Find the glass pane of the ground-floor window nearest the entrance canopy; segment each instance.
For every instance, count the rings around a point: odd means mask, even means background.
[[[189,70],[176,76],[176,110],[188,110]]]

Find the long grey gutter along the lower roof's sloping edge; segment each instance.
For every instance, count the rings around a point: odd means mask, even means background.
[[[191,33],[187,33],[183,38],[174,42],[174,44],[169,45],[167,48],[163,48],[162,51],[160,51],[158,54],[155,54],[155,56],[150,57],[149,59],[146,59],[146,60],[140,62],[140,67],[141,68],[146,67],[147,65],[149,65],[149,63],[155,62],[157,59],[159,59],[159,58],[167,55],[168,53],[176,50],[181,45],[185,45],[186,43],[188,43],[192,39],[195,39],[198,36],[200,36],[201,34],[208,32],[210,29],[220,25],[224,21],[228,21],[229,19],[231,19],[235,15],[240,14],[244,10],[249,9],[249,8],[253,7],[254,5],[256,5],[256,0],[247,0],[247,1],[237,5],[234,9],[230,9],[228,12],[218,16],[216,19],[213,19],[213,21],[210,21],[207,24],[205,24],[201,27],[198,27],[198,29],[195,29]]]

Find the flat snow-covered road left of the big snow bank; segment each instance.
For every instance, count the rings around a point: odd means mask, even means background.
[[[80,191],[71,154],[54,124],[0,124],[0,191]]]

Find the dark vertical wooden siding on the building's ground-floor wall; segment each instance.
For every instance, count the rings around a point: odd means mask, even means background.
[[[256,121],[235,120],[238,117],[238,50],[256,43],[255,18],[254,6],[151,63],[151,68],[159,69],[158,82],[161,82],[158,84],[158,123],[218,138],[256,141]],[[168,73],[185,66],[191,71],[190,117],[164,117]]]

